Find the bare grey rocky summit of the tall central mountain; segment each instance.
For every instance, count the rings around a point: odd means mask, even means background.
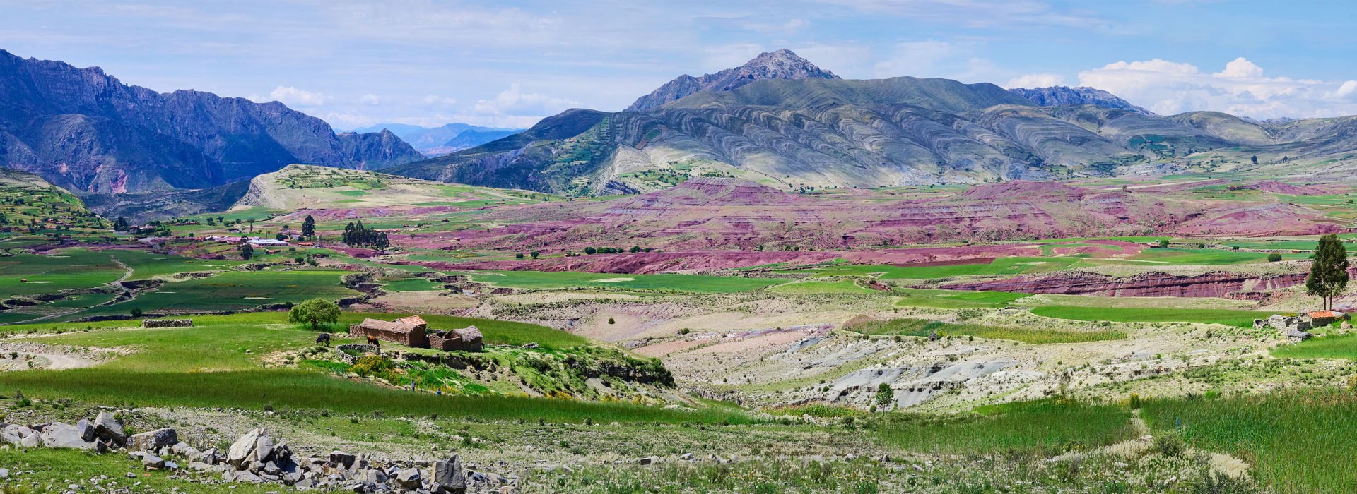
[[[769,78],[839,78],[839,76],[816,66],[816,64],[801,58],[791,50],[782,49],[760,54],[734,69],[725,69],[702,77],[689,74],[678,76],[649,95],[636,99],[635,103],[627,107],[627,111],[658,108],[699,91],[730,91],[753,81]]]

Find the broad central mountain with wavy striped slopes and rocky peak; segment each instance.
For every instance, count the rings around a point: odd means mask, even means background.
[[[693,176],[803,189],[1250,166],[1296,173],[1296,158],[1350,158],[1354,133],[1353,118],[1162,116],[1094,88],[843,80],[779,50],[678,77],[626,111],[567,110],[521,134],[388,172],[571,195],[645,192]]]

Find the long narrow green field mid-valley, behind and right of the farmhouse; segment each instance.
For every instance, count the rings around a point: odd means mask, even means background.
[[[510,288],[565,290],[577,287],[692,294],[730,294],[765,288],[783,280],[703,275],[613,275],[544,271],[470,271],[472,280]]]

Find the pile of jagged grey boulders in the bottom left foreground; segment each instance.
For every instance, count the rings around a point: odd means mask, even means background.
[[[0,424],[0,440],[22,448],[77,448],[126,452],[148,471],[175,471],[185,478],[201,474],[206,483],[282,483],[297,490],[350,490],[356,493],[463,494],[468,491],[517,491],[516,479],[463,470],[453,453],[438,462],[375,460],[342,451],[324,457],[293,455],[285,441],[275,441],[263,428],[240,436],[228,451],[199,451],[179,441],[175,429],[128,436],[111,413],[71,425],[62,422],[23,426]],[[182,460],[182,462],[180,462]],[[180,466],[180,463],[186,463]],[[213,480],[220,475],[221,480]]]

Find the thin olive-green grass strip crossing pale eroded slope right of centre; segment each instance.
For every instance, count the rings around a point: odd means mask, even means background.
[[[898,334],[915,337],[925,337],[938,332],[938,336],[974,336],[980,338],[1012,340],[1027,344],[1103,341],[1121,340],[1126,337],[1126,333],[1117,330],[1063,332],[1054,329],[1004,328],[908,318],[867,322],[845,329],[863,334]]]

